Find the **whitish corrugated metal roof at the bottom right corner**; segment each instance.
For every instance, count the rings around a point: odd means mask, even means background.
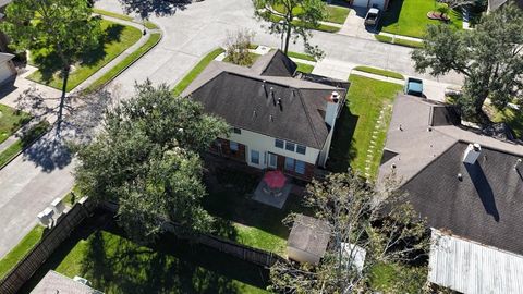
[[[433,230],[428,280],[465,294],[522,293],[523,256]]]

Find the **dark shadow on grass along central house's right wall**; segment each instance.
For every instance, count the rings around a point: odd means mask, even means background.
[[[356,157],[354,131],[356,130],[357,115],[349,107],[343,108],[332,137],[332,146],[327,161],[327,169],[332,172],[346,172],[350,162]]]

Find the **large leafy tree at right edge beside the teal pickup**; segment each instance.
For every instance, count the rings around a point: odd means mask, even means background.
[[[418,72],[440,76],[464,75],[463,95],[457,99],[465,117],[489,124],[483,111],[487,99],[502,110],[523,100],[523,11],[510,3],[482,17],[472,30],[429,26],[424,47],[412,59]]]

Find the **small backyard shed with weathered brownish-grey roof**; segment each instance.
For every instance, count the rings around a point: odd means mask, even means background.
[[[329,223],[297,215],[287,242],[287,255],[300,262],[317,265],[330,238]]]

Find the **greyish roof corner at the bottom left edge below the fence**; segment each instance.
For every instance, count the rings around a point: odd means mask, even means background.
[[[31,293],[102,294],[88,285],[73,281],[71,278],[62,275],[53,270],[48,271]]]

